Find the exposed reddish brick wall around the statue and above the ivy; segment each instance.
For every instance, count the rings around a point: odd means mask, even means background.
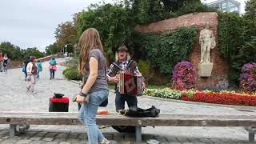
[[[215,12],[210,13],[197,13],[197,14],[186,14],[178,18],[170,18],[160,22],[151,23],[148,26],[136,26],[135,30],[142,33],[157,33],[164,34],[172,30],[177,29],[180,26],[195,26],[198,29],[197,40],[190,53],[190,62],[192,62],[196,70],[196,88],[225,88],[229,86],[227,81],[228,66],[223,58],[220,58],[217,50],[217,46],[210,51],[211,62],[214,63],[213,71],[210,78],[201,78],[198,76],[198,63],[200,62],[200,45],[198,42],[199,32],[206,24],[210,22],[210,30],[214,31],[215,41],[218,46],[218,14]]]

